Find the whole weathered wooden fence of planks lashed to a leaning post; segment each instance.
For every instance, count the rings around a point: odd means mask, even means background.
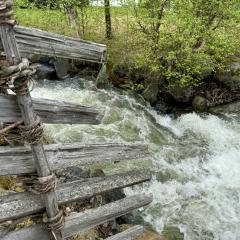
[[[57,184],[54,172],[67,167],[114,163],[148,157],[144,144],[53,144],[42,143],[44,123],[100,124],[104,111],[95,107],[46,99],[32,99],[29,80],[33,70],[29,54],[106,62],[106,46],[37,29],[16,26],[11,19],[12,0],[0,0],[1,58],[0,135],[22,146],[0,147],[0,176],[27,175],[26,191],[0,197],[0,223],[42,213],[41,223],[0,235],[3,240],[66,239],[89,228],[146,206],[151,195],[139,194],[65,216],[61,207],[113,189],[149,181],[151,174],[134,170],[112,176]],[[15,94],[9,94],[11,89]],[[135,226],[109,240],[133,239],[143,231]]]

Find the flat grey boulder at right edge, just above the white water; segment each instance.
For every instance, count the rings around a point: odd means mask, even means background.
[[[211,107],[209,112],[214,114],[240,114],[240,101]]]

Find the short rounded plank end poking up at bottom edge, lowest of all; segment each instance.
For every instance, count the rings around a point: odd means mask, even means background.
[[[142,226],[131,227],[121,233],[118,233],[112,237],[107,238],[106,240],[133,240],[143,233]]]

